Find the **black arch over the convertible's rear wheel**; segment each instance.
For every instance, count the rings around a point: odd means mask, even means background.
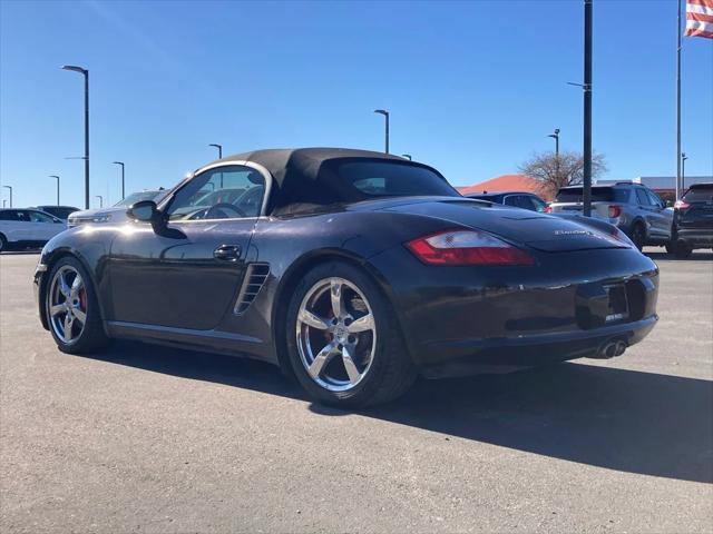
[[[311,269],[328,261],[342,261],[351,265],[365,273],[377,285],[382,296],[385,298],[388,306],[393,310],[393,299],[391,295],[390,286],[385,277],[377,269],[367,258],[359,256],[350,250],[343,248],[326,248],[312,250],[295,260],[282,276],[280,285],[275,291],[275,298],[273,303],[272,313],[272,335],[275,342],[275,350],[277,353],[277,363],[283,373],[292,375],[292,365],[290,364],[287,356],[287,347],[285,343],[285,336],[282,334],[285,332],[287,322],[287,307],[290,298],[300,284],[302,277]],[[393,314],[397,319],[399,330],[403,333],[401,327],[401,320],[398,314]]]

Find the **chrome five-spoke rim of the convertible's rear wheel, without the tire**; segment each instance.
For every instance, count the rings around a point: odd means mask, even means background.
[[[325,278],[310,288],[297,313],[297,349],[312,379],[345,392],[369,373],[377,325],[369,301],[344,278]]]

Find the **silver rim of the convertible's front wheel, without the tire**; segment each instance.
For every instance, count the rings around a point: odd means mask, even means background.
[[[47,312],[55,335],[65,344],[75,342],[87,323],[87,289],[81,276],[65,265],[52,278],[47,294]]]

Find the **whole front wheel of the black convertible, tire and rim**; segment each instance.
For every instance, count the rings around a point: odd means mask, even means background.
[[[60,258],[52,267],[45,291],[45,313],[61,352],[81,354],[106,346],[108,339],[94,286],[76,258]]]

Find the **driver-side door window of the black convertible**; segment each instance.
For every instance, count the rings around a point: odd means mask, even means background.
[[[172,199],[169,220],[241,219],[258,217],[265,178],[241,165],[217,167],[193,178]]]

